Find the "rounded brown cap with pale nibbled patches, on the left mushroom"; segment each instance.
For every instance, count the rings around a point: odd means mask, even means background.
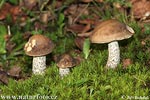
[[[43,56],[52,52],[54,43],[46,36],[36,34],[25,44],[25,53],[29,56]]]

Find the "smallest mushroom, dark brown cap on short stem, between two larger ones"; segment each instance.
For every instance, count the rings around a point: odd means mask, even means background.
[[[76,58],[73,58],[69,54],[63,54],[62,56],[58,57],[57,60],[57,66],[59,67],[59,74],[61,78],[68,75],[70,73],[70,68],[76,66],[79,64],[79,60]]]

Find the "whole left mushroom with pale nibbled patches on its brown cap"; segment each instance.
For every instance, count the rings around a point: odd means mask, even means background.
[[[25,53],[33,56],[32,71],[34,74],[43,74],[46,69],[46,55],[54,48],[53,42],[40,34],[33,35],[25,44]]]

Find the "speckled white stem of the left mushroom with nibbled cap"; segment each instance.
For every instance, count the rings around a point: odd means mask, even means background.
[[[33,74],[43,74],[46,69],[46,56],[33,57]]]

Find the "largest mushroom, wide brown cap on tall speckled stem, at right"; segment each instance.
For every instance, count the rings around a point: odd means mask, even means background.
[[[128,25],[115,19],[105,20],[88,33],[91,43],[108,43],[108,60],[106,67],[116,68],[120,63],[120,49],[118,40],[128,39],[134,30]],[[87,36],[79,34],[78,36]]]

